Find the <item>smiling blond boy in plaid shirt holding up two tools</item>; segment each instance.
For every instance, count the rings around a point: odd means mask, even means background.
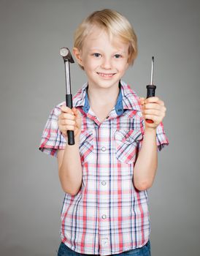
[[[83,20],[73,53],[88,82],[72,110],[64,102],[53,109],[40,146],[58,157],[66,192],[58,256],[150,255],[147,189],[157,151],[168,144],[164,102],[139,99],[121,80],[137,46],[120,13],[101,10]],[[67,130],[74,130],[74,146],[66,143]]]

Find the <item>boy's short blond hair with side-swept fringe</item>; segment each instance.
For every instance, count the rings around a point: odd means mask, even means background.
[[[136,34],[128,20],[114,10],[96,11],[85,18],[74,33],[74,48],[82,50],[83,42],[88,34],[92,32],[94,26],[107,31],[110,39],[113,36],[120,37],[123,42],[128,43],[128,64],[134,64],[134,59],[137,56]]]

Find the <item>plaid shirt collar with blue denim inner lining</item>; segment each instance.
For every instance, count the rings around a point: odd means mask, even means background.
[[[73,104],[75,108],[82,106],[84,112],[88,113],[88,110],[90,109],[88,100],[88,83],[85,83],[82,88],[77,91],[77,94],[74,95]],[[115,105],[115,111],[118,116],[120,116],[126,109],[140,111],[141,107],[139,105],[139,97],[130,86],[120,80],[120,92]]]

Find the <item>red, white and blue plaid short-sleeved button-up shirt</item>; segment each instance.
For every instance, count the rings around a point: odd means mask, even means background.
[[[150,236],[147,191],[138,191],[132,182],[145,121],[139,97],[121,81],[115,108],[101,123],[89,106],[87,86],[73,99],[82,115],[82,186],[77,195],[64,197],[61,239],[75,252],[113,255],[145,245]],[[58,129],[64,104],[50,113],[42,134],[39,149],[52,156],[66,145]],[[156,139],[159,151],[168,144],[163,124]]]

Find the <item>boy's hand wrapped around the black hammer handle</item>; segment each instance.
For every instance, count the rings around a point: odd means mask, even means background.
[[[79,110],[61,106],[61,114],[58,116],[58,127],[64,138],[67,139],[67,130],[74,131],[74,139],[79,138],[82,118]]]

